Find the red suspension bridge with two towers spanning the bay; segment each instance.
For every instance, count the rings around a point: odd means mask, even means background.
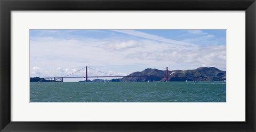
[[[85,72],[83,72],[83,70],[85,69]],[[96,72],[99,72],[99,73],[102,73],[104,75],[101,75],[101,76],[88,76],[88,69],[91,69],[92,71],[96,71]],[[77,75],[77,73],[82,73],[82,74],[85,74],[85,75]],[[169,71],[168,71],[168,67],[166,67],[166,76],[122,76],[122,75],[115,75],[115,74],[109,74],[109,73],[106,73],[106,72],[101,72],[97,69],[93,69],[91,67],[88,67],[88,66],[85,66],[79,70],[77,70],[76,72],[74,73],[71,73],[71,74],[68,74],[66,76],[62,76],[62,77],[42,77],[44,79],[47,79],[47,80],[54,80],[56,82],[63,82],[63,79],[64,78],[85,78],[85,82],[88,82],[88,78],[105,78],[105,77],[162,77],[162,78],[166,78],[166,82],[169,82],[169,78],[170,76],[168,75]]]

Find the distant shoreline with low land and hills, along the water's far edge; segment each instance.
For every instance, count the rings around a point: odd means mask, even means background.
[[[90,76],[89,76],[90,77]],[[98,77],[98,76],[97,76]],[[111,76],[99,76],[99,77],[111,77]],[[116,76],[113,76],[116,77]],[[30,82],[65,82],[63,78],[71,77],[47,77],[49,80],[41,77],[30,77]],[[51,80],[50,80],[51,78]],[[113,78],[111,80],[94,79],[78,82],[225,82],[226,81],[226,71],[221,71],[215,67],[199,67],[192,70],[174,70],[162,71],[159,69],[146,68],[141,72],[134,72],[122,78]],[[52,80],[53,79],[53,80]]]

